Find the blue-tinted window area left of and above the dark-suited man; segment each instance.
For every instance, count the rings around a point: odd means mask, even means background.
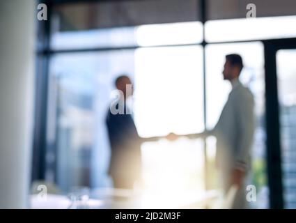
[[[110,185],[104,118],[116,75],[134,75],[134,51],[56,54],[50,68],[47,156],[56,153],[59,186]]]

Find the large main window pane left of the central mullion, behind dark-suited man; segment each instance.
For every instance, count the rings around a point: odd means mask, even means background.
[[[50,67],[47,178],[54,178],[50,167],[56,162],[64,192],[77,185],[111,186],[105,118],[120,74],[134,80],[133,116],[142,137],[204,130],[201,46],[55,54]],[[149,193],[166,202],[174,192],[181,202],[203,190],[201,139],[163,139],[143,144],[142,151]]]

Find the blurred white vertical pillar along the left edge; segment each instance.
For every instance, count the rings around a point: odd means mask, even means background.
[[[0,208],[29,203],[34,17],[34,0],[0,1]]]

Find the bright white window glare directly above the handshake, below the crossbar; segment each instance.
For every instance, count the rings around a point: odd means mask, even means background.
[[[200,46],[137,49],[134,119],[141,136],[203,131],[201,56]]]

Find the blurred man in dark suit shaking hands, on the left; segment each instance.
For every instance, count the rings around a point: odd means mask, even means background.
[[[127,99],[133,93],[130,78],[122,75],[116,79],[115,85],[119,97],[111,103],[106,120],[111,146],[109,175],[114,187],[132,189],[135,181],[141,182],[141,143],[157,141],[159,137],[139,137],[132,112],[127,108]]]

